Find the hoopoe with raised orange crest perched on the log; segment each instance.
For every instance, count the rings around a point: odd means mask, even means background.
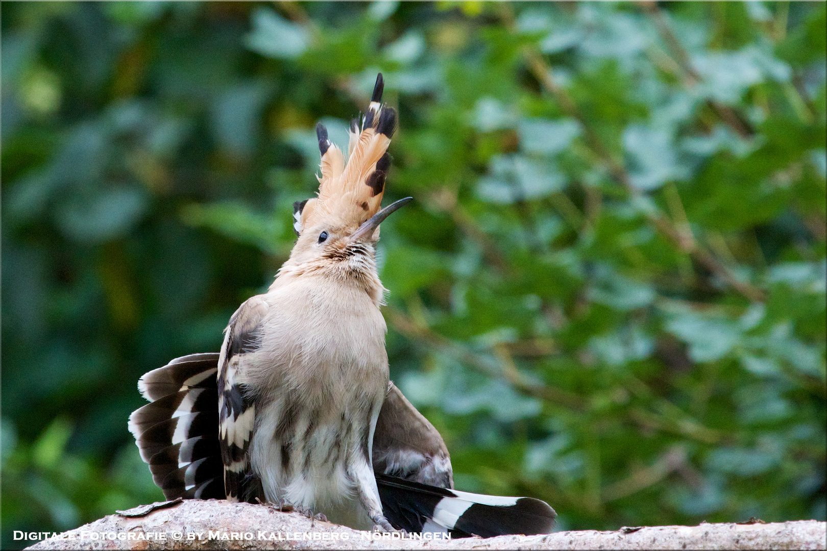
[[[390,381],[376,264],[397,115],[351,121],[347,159],[316,127],[316,197],[294,203],[297,239],[267,292],[241,304],[219,353],[144,374],[128,428],[167,499],[292,509],[360,530],[452,537],[545,534],[557,513],[529,497],[454,489],[442,436]]]

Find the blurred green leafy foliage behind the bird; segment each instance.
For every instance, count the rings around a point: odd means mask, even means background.
[[[377,71],[391,374],[562,529],[825,519],[825,3],[4,2],[2,547],[161,498]]]

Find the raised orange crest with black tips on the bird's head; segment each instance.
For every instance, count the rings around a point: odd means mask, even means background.
[[[318,197],[294,203],[297,234],[323,218],[359,226],[380,210],[390,169],[388,145],[396,130],[394,108],[381,102],[384,88],[380,73],[366,114],[361,122],[351,121],[347,164],[342,150],[327,138],[327,128],[322,123],[316,126],[322,176]]]

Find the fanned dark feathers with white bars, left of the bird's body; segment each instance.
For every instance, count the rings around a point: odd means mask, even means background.
[[[141,458],[167,499],[224,499],[218,447],[218,354],[190,354],[146,373],[150,404],[129,416]]]

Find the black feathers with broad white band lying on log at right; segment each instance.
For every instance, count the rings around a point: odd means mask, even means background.
[[[532,497],[484,496],[376,475],[382,509],[390,523],[409,532],[478,535],[548,534],[557,513]]]

